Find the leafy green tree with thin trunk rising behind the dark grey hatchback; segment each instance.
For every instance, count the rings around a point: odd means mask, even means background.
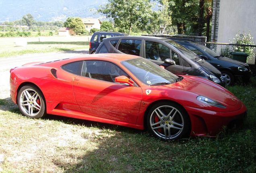
[[[113,18],[117,27],[129,29],[131,34],[132,26],[145,28],[152,10],[150,0],[108,0],[105,6],[100,6],[98,12]]]

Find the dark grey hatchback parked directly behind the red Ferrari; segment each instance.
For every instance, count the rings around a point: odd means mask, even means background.
[[[225,87],[221,72],[184,46],[151,36],[105,38],[95,53],[125,53],[141,56],[177,75],[199,76]]]

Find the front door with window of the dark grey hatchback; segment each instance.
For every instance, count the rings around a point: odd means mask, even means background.
[[[184,74],[184,68],[182,65],[182,59],[178,53],[171,50],[169,47],[159,42],[151,40],[145,40],[145,54],[144,58],[151,60],[155,64],[162,65],[166,70],[173,74]],[[166,58],[170,58],[175,61],[175,65],[164,63]]]

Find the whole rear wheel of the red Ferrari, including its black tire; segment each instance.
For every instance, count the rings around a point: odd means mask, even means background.
[[[33,119],[39,119],[46,115],[46,104],[43,93],[33,85],[21,87],[17,103],[21,113]]]

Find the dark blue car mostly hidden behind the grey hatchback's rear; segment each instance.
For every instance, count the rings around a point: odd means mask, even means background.
[[[122,32],[94,32],[90,40],[89,54],[94,54],[103,38],[128,35]]]

